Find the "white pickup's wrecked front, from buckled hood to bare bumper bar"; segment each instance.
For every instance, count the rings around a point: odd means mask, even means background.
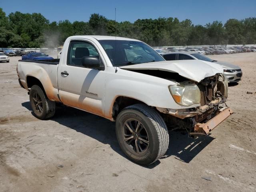
[[[123,68],[175,83],[168,89],[180,108],[155,107],[171,130],[182,128],[191,136],[206,136],[233,113],[225,103],[228,81],[218,64],[179,60]]]

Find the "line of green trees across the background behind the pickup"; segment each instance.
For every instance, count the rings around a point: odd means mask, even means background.
[[[53,48],[72,35],[110,35],[135,38],[150,46],[256,44],[256,18],[229,19],[194,25],[189,19],[138,19],[116,22],[91,14],[88,22],[49,22],[40,13],[10,13],[0,8],[0,47]]]

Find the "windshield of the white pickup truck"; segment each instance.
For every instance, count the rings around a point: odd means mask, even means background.
[[[99,40],[114,66],[164,61],[153,48],[139,41]]]

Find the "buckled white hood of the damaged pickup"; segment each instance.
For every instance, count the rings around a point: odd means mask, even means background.
[[[180,76],[200,82],[206,77],[222,73],[222,66],[202,60],[174,60],[150,62],[120,67],[130,70],[162,70],[178,73]]]

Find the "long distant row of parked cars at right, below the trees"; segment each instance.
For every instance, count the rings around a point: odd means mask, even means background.
[[[177,49],[174,47],[168,47],[167,49],[156,49],[156,52],[163,54],[166,52],[196,52],[202,55],[219,55],[219,54],[232,54],[232,53],[242,53],[242,52],[256,52],[256,47],[202,47],[202,48],[192,48],[187,47],[184,49]]]

